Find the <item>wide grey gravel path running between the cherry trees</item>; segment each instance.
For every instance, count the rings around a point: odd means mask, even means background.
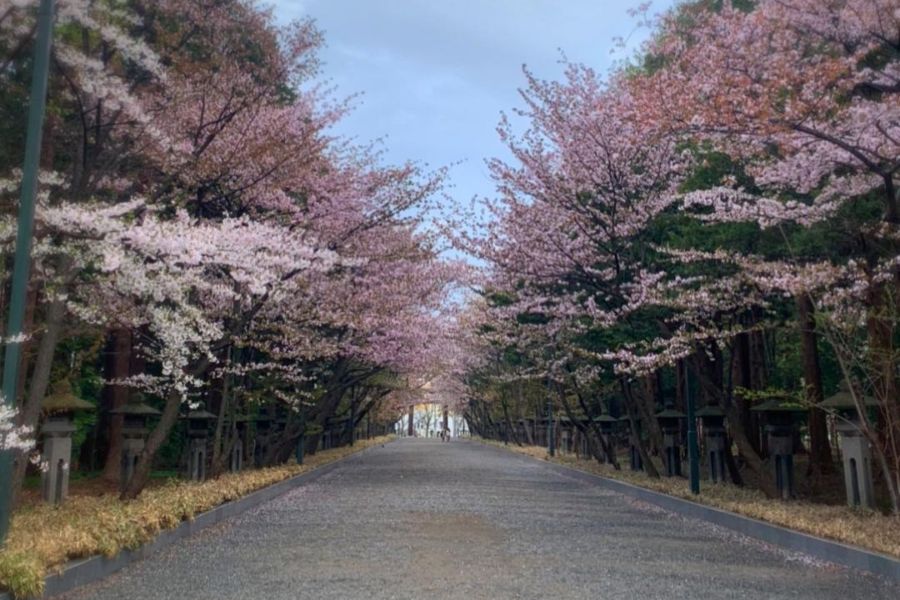
[[[401,440],[60,597],[900,598],[537,461]]]

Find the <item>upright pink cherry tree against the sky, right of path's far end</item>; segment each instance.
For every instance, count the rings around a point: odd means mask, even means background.
[[[521,114],[531,127],[519,138],[501,123],[516,164],[492,162],[500,193],[488,207],[494,220],[462,245],[490,265],[488,289],[506,294],[492,311],[518,321],[517,347],[542,339],[531,364],[572,386],[609,364],[588,357],[579,337],[614,337],[656,303],[666,275],[648,259],[648,227],[670,210],[686,160],[675,138],[642,118],[624,79],[604,84],[577,65],[564,83],[526,77]],[[620,383],[632,396],[631,379]],[[627,406],[653,427],[646,402]]]

